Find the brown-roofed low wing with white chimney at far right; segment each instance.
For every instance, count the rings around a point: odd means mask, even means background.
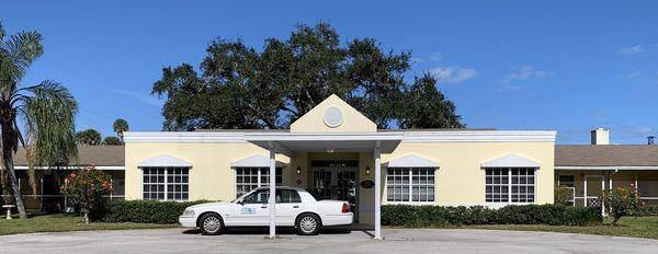
[[[646,204],[658,204],[658,146],[610,145],[610,131],[592,130],[592,145],[555,148],[556,185],[571,188],[574,206],[597,200],[603,189],[636,186]]]

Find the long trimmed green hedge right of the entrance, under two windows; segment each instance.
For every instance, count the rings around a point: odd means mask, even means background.
[[[601,208],[563,205],[521,205],[490,209],[483,206],[382,206],[382,224],[394,227],[446,227],[463,224],[601,224]]]

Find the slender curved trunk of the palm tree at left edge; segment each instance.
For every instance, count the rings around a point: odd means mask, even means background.
[[[19,217],[21,219],[27,219],[27,212],[25,211],[23,197],[21,196],[21,190],[19,189],[19,178],[16,178],[16,172],[13,168],[13,131],[14,130],[11,124],[2,124],[2,165],[4,166],[7,178],[14,196],[16,209],[19,210]]]

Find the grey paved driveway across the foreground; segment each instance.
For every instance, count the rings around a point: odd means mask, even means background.
[[[184,229],[34,233],[0,236],[0,253],[657,253],[658,241],[586,234],[470,229],[333,230],[317,236],[232,230],[205,236]]]

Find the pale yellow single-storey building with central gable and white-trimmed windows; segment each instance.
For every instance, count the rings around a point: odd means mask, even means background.
[[[231,200],[268,185],[272,153],[277,184],[350,200],[362,223],[375,223],[379,198],[381,204],[445,206],[549,204],[555,136],[552,130],[382,130],[331,95],[286,130],[128,131],[125,197]]]

